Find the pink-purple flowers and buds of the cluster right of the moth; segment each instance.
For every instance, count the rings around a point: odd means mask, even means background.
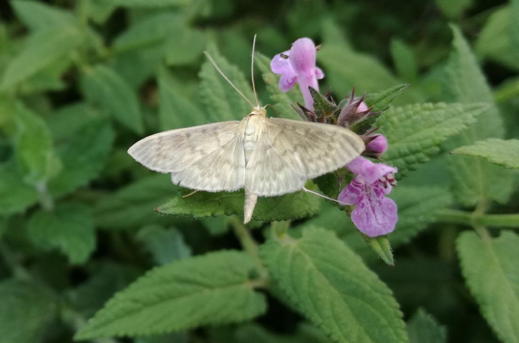
[[[302,109],[310,113],[311,116],[307,118],[316,118],[311,91],[319,90],[317,80],[322,79],[324,74],[316,67],[316,46],[313,41],[309,38],[297,39],[290,50],[274,56],[270,68],[272,72],[281,74],[279,88],[283,92],[288,92],[299,83],[305,99]],[[352,92],[347,104],[338,111],[334,123],[349,127],[372,116],[374,113],[371,110],[363,102],[363,97],[356,98]],[[365,133],[363,139],[366,142],[366,150],[362,153],[364,156],[378,159],[387,149],[386,137],[373,134],[373,130]],[[353,223],[359,231],[370,237],[392,232],[398,219],[397,204],[385,195],[396,185],[393,175],[397,173],[397,168],[373,163],[362,156],[345,167],[355,176],[340,192],[338,201],[355,205],[351,213]]]

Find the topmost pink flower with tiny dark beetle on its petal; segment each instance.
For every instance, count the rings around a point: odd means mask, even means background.
[[[322,79],[322,70],[316,67],[316,46],[310,38],[299,38],[288,51],[278,53],[270,61],[273,73],[281,74],[279,89],[288,92],[294,84],[299,88],[305,99],[305,107],[313,111],[313,99],[308,87],[319,91],[318,79]]]

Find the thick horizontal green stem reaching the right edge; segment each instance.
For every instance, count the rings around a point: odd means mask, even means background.
[[[519,213],[512,215],[487,215],[479,212],[445,209],[440,212],[438,220],[453,224],[519,228]]]

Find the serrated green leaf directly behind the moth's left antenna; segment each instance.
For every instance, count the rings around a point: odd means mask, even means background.
[[[227,78],[254,104],[251,86],[241,70],[230,64],[214,44],[209,45],[208,51]],[[200,98],[208,110],[210,121],[241,120],[251,112],[251,105],[217,72],[209,60],[202,64],[198,76],[201,79]]]

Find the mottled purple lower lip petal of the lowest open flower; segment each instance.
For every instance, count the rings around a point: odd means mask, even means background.
[[[357,207],[351,213],[351,221],[370,237],[386,235],[397,224],[397,204],[384,196],[383,187],[365,187]]]

